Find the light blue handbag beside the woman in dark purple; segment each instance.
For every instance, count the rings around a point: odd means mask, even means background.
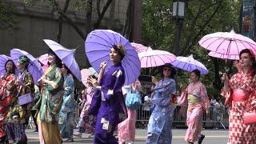
[[[126,106],[131,110],[138,110],[142,105],[142,99],[140,94],[138,94],[138,90],[136,93],[132,93],[131,90],[126,94]]]

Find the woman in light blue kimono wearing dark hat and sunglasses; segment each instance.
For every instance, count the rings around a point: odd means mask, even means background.
[[[172,121],[175,106],[170,103],[176,92],[174,75],[176,70],[170,65],[162,66],[162,80],[159,82],[152,78],[154,86],[152,104],[154,110],[150,116],[147,130],[146,143],[148,144],[170,144],[172,139]]]

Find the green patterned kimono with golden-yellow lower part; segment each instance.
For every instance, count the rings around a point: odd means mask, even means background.
[[[44,77],[50,84],[42,86],[41,98],[35,107],[40,106],[38,112],[38,134],[41,144],[61,143],[62,137],[58,129],[58,113],[62,106],[63,77],[61,69],[50,66]]]

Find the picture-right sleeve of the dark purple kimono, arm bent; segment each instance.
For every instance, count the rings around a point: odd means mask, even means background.
[[[122,86],[125,82],[125,74],[122,70],[117,70],[113,74],[115,78],[113,90],[107,90],[107,93],[104,94],[106,100],[110,100],[114,95],[122,93]]]

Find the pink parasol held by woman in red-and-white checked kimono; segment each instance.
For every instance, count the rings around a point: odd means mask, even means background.
[[[232,58],[230,55],[239,55],[239,52],[243,49],[251,49],[254,53],[256,52],[256,42],[246,36],[236,34],[234,30],[229,33],[207,34],[198,43],[206,50],[225,54],[227,58]],[[222,55],[219,56],[222,58]]]

